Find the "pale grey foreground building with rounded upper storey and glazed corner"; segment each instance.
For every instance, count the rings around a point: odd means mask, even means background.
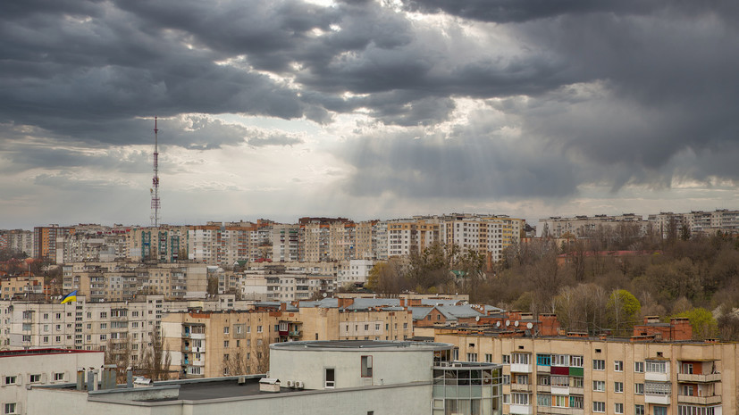
[[[29,391],[29,411],[500,415],[500,365],[452,362],[450,347],[384,341],[272,344],[271,378],[186,379],[149,387],[103,387],[95,392],[84,385],[34,387]]]

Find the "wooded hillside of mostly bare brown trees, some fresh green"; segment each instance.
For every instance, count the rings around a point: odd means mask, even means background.
[[[633,226],[595,229],[588,238],[509,247],[483,270],[484,258],[432,245],[407,261],[378,265],[378,293],[465,293],[474,303],[535,314],[555,312],[568,331],[630,336],[645,316],[687,317],[696,339],[739,340],[739,240],[718,233],[662,238]],[[627,250],[613,254],[609,251]]]

